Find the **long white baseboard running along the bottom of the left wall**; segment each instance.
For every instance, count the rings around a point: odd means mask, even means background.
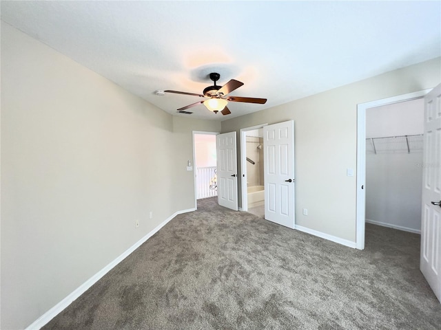
[[[127,256],[129,256],[132,252],[134,252],[134,250],[139,248],[145,241],[147,241],[147,239],[150,239],[150,237],[152,237],[154,234],[156,234],[156,232],[158,232],[158,230],[163,228],[163,226],[166,225],[174,217],[176,217],[176,215],[187,213],[187,212],[192,212],[194,210],[196,210],[196,208],[189,208],[187,210],[181,210],[181,211],[174,212],[174,214],[172,214],[170,217],[168,217],[163,222],[161,222],[159,225],[157,225],[156,228],[154,228],[152,231],[150,231],[142,239],[140,239],[139,241],[134,243],[134,245],[132,245],[130,248],[128,248],[125,252],[123,252],[123,254],[118,256],[114,261],[109,263],[102,270],[100,270],[94,276],[89,278],[88,281],[85,281],[85,283],[83,283],[82,285],[77,287],[74,290],[74,292],[69,294],[69,296],[65,297],[57,305],[55,305],[54,307],[49,309],[47,312],[45,312],[45,314],[40,316],[29,327],[27,327],[26,330],[39,330],[39,329],[41,329],[41,327],[47,325],[48,322],[50,320],[52,320],[52,318],[54,318],[55,316],[60,314],[61,311],[63,311],[63,309],[68,307],[75,299],[79,298],[79,296],[81,296],[81,294],[86,292],[90,287],[92,287],[92,285],[94,285],[96,282],[98,282],[100,278],[102,278],[105,274],[107,274],[107,272],[112,270],[113,267],[115,267],[116,265],[121,263],[121,261],[123,261],[125,258],[127,258]]]

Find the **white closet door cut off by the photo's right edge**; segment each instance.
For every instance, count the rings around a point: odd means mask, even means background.
[[[420,270],[441,301],[441,85],[424,106]]]

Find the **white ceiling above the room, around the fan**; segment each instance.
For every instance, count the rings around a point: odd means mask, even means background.
[[[1,1],[1,19],[176,115],[234,78],[227,120],[441,56],[441,1]]]

